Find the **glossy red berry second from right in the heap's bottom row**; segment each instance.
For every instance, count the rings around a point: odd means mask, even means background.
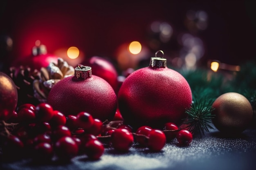
[[[55,152],[59,159],[69,160],[78,154],[78,146],[72,137],[61,137],[55,144]]]

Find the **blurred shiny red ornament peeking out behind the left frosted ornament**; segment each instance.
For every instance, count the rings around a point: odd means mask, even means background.
[[[118,82],[117,82],[117,70],[115,66],[103,57],[93,56],[86,61],[87,66],[92,67],[93,75],[97,75],[105,79],[112,88],[117,91]]]

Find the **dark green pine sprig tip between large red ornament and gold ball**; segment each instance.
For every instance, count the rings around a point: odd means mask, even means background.
[[[202,100],[201,102],[195,100],[191,104],[191,108],[186,109],[188,117],[184,119],[184,124],[186,128],[192,133],[199,132],[200,135],[204,135],[204,131],[209,132],[209,128],[213,129],[211,126],[211,119],[214,118],[214,115],[211,112],[214,110],[212,108],[212,101]]]

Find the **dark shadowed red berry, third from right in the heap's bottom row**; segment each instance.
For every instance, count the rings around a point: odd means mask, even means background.
[[[53,156],[52,145],[47,142],[41,142],[34,147],[33,159],[37,161],[51,160]]]

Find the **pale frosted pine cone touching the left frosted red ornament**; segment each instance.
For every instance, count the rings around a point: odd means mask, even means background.
[[[74,67],[69,66],[62,58],[58,63],[50,63],[47,68],[42,67],[40,79],[34,81],[34,97],[40,102],[46,102],[52,87],[61,79],[74,75]]]

